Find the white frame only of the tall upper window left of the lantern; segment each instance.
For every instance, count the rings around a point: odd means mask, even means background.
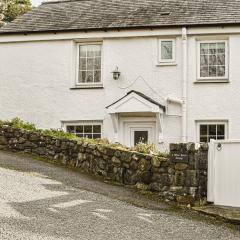
[[[96,88],[96,87],[103,87],[103,43],[102,42],[78,42],[77,44],[77,54],[76,54],[76,80],[75,84],[76,87],[80,88]],[[79,82],[79,60],[80,60],[80,46],[88,46],[88,45],[100,45],[101,46],[101,75],[100,75],[100,82],[92,82],[92,83],[80,83]]]

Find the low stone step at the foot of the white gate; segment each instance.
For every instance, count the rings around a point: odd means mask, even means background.
[[[204,213],[214,217],[220,217],[225,219],[228,222],[240,225],[240,208],[239,207],[208,205],[203,207],[194,207],[193,209],[200,213]]]

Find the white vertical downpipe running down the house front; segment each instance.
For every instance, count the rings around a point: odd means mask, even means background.
[[[187,136],[187,28],[182,28],[182,142],[186,143],[188,141]]]

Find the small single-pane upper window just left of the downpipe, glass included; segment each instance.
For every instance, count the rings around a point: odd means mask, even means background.
[[[175,40],[161,39],[159,40],[158,56],[160,63],[174,63],[175,62]]]

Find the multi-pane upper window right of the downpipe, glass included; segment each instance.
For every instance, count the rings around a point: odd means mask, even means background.
[[[227,79],[227,41],[199,42],[198,79]]]

